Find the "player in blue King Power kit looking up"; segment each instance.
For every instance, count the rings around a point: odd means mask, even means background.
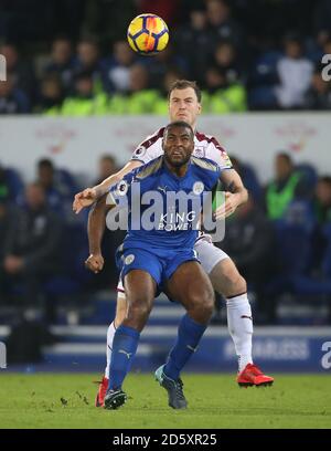
[[[192,157],[193,149],[192,127],[183,122],[171,123],[164,130],[164,155],[129,172],[110,188],[108,200],[110,197],[113,204],[119,203],[124,197],[128,202],[128,233],[116,259],[128,310],[114,337],[106,409],[117,409],[127,399],[122,382],[137,352],[140,332],[160,291],[180,302],[186,314],[180,321],[177,342],[167,364],[157,369],[156,378],[168,391],[170,407],[186,408],[180,373],[196,349],[214,305],[212,284],[193,249],[199,233],[193,219],[201,214],[203,195],[213,190],[220,177],[218,165],[205,158]],[[135,189],[137,191],[137,183],[138,197],[134,192]],[[162,203],[160,214],[154,214],[152,229],[146,229],[142,220],[150,207],[142,202],[147,192],[157,192]],[[169,212],[169,193],[189,199],[185,211],[181,210],[183,203],[177,201]],[[141,208],[139,224],[137,218],[132,218],[137,202]],[[107,203],[104,200],[105,210],[109,207]],[[88,232],[93,252],[92,227]]]

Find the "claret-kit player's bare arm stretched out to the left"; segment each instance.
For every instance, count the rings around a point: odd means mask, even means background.
[[[92,188],[86,188],[81,192],[77,192],[73,202],[73,210],[78,214],[85,207],[92,206],[96,200],[103,197],[114,183],[118,183],[126,174],[130,172],[135,168],[141,166],[142,162],[138,160],[130,160],[118,172],[113,174],[106,178],[102,183]]]

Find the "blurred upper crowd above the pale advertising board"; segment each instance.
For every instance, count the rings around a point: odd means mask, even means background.
[[[126,41],[146,11],[170,28],[156,56]],[[329,0],[2,1],[0,43],[0,114],[166,114],[183,77],[202,86],[205,113],[331,108]]]

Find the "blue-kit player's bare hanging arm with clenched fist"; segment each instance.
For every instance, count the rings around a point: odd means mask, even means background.
[[[90,209],[87,223],[89,256],[85,261],[85,266],[97,274],[104,268],[102,254],[102,240],[105,232],[105,216],[111,206],[106,204],[107,195],[104,195]]]

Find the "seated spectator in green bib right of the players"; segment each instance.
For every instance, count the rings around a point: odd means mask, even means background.
[[[271,220],[282,219],[287,208],[305,192],[305,181],[295,170],[291,157],[280,153],[275,158],[275,179],[266,188],[266,210]]]

